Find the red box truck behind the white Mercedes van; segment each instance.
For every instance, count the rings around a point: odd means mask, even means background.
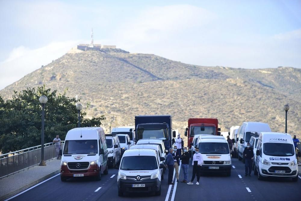
[[[209,118],[189,118],[188,127],[185,131],[185,136],[188,137],[188,146],[191,149],[190,143],[193,142],[195,135],[209,134],[221,135],[221,129],[218,127],[219,121],[217,119]]]

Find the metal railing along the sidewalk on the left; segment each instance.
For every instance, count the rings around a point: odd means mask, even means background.
[[[61,141],[62,144],[64,141]],[[0,179],[41,162],[41,145],[0,155]],[[45,161],[56,158],[54,143],[44,144]]]

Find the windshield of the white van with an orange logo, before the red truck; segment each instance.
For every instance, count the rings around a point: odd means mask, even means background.
[[[216,142],[199,143],[199,149],[201,154],[228,154],[229,153],[228,143],[216,143]]]

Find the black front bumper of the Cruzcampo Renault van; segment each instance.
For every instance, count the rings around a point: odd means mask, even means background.
[[[132,187],[132,184],[145,184],[145,187]],[[158,178],[156,179],[146,179],[140,182],[133,180],[123,180],[119,179],[117,182],[118,190],[123,192],[140,192],[140,193],[149,193],[159,191],[161,188],[161,181]]]

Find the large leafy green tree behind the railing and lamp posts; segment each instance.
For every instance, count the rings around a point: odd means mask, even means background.
[[[22,92],[14,91],[11,100],[4,100],[0,95],[0,151],[7,153],[26,149],[41,144],[42,105],[39,97],[47,96],[45,104],[45,143],[52,142],[56,135],[64,140],[68,130],[77,127],[78,111],[76,99],[57,90],[44,87],[27,88]],[[81,110],[81,127],[98,127],[105,119],[100,117],[85,118]]]

